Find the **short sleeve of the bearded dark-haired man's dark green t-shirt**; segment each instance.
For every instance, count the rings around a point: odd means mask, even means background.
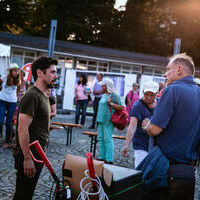
[[[19,113],[35,116],[39,105],[39,98],[35,94],[25,94],[20,102]]]

